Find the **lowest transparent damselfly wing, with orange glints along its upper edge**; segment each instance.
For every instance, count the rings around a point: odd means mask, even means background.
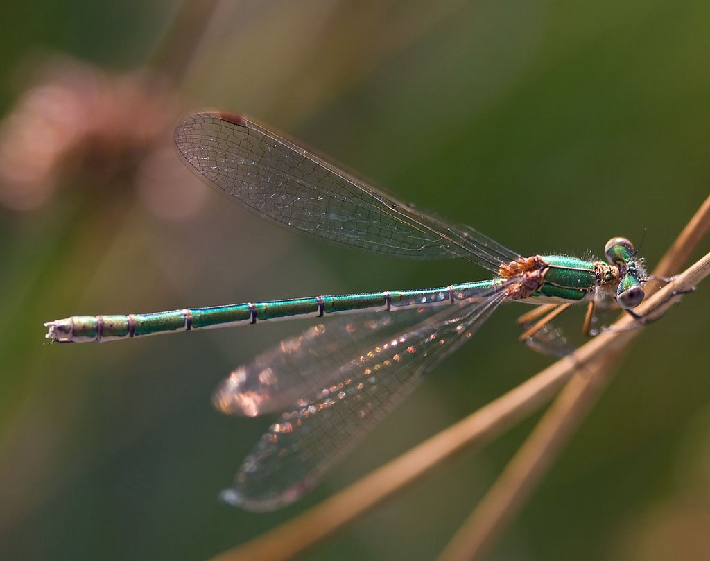
[[[430,371],[466,342],[505,299],[503,290],[427,318],[378,344],[341,351],[337,382],[281,415],[244,460],[222,498],[249,511],[298,499],[320,481]],[[400,313],[400,312],[398,312]],[[360,324],[368,320],[351,320]]]

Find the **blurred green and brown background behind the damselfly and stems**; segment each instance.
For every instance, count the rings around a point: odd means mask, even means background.
[[[33,124],[28,92],[46,93],[37,87],[48,81],[65,80],[98,114],[138,107],[107,126],[109,136],[130,137],[154,114],[164,125],[153,124],[158,132],[143,143],[114,138],[117,147],[84,136],[60,154],[51,180],[1,186],[4,560],[206,559],[550,364],[517,342],[520,309],[503,307],[305,499],[260,515],[217,501],[271,420],[219,415],[212,390],[305,324],[50,346],[43,322],[486,273],[302,239],[225,205],[168,146],[182,114],[214,107],[255,116],[522,254],[599,256],[611,236],[627,236],[643,239],[652,268],[709,193],[706,1],[13,4],[0,22],[2,141],[17,148],[13,131],[35,135],[14,153],[24,154],[27,173],[54,130]],[[124,103],[101,74],[145,65],[167,73],[173,89],[146,87],[147,101]],[[48,66],[49,77],[38,71]],[[117,103],[77,78],[96,72]],[[84,125],[96,125],[96,114]],[[65,111],[47,119],[75,129]],[[6,172],[13,161],[0,153]],[[26,196],[32,188],[36,196]],[[707,558],[704,288],[645,329],[488,558]],[[306,558],[435,557],[533,421],[463,454]]]

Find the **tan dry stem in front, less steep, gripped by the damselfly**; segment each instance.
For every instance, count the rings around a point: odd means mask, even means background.
[[[710,205],[704,206],[710,209]],[[710,255],[704,259],[705,268],[699,267],[694,274],[676,279],[674,283],[670,283],[649,298],[645,306],[662,302],[674,289],[687,290],[697,284],[701,278],[710,273]],[[664,271],[662,274],[670,273]],[[671,304],[668,300],[664,305],[670,307]],[[625,315],[614,327],[623,329],[632,323],[633,319]],[[338,494],[248,543],[213,557],[212,561],[286,560],[314,547],[339,528],[363,516],[381,501],[430,472],[444,459],[462,449],[491,440],[542,403],[549,401],[580,366],[586,365],[584,371],[589,372],[591,366],[588,363],[591,359],[603,353],[620,352],[620,349],[628,344],[638,331],[636,329],[599,334],[573,354],[565,356],[517,388],[356,481]],[[587,379],[588,376],[578,378]]]

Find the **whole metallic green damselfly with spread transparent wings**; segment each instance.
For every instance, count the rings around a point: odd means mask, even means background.
[[[608,241],[606,261],[523,257],[471,227],[398,202],[242,116],[193,115],[178,125],[175,144],[209,185],[297,232],[382,254],[463,258],[493,273],[491,280],[442,288],[75,316],[45,324],[53,341],[99,342],[361,312],[317,320],[234,370],[214,394],[224,413],[285,410],[244,460],[234,487],[223,493],[248,510],[285,506],[311,489],[501,303],[547,304],[547,315],[525,334],[534,338],[569,304],[589,303],[589,331],[597,303],[616,303],[633,315],[630,310],[644,298],[645,272],[624,238]],[[528,320],[540,315],[532,312]]]

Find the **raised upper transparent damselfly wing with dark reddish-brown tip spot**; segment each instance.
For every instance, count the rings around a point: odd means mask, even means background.
[[[466,258],[496,272],[519,256],[470,227],[415,211],[243,116],[192,115],[175,129],[175,144],[211,185],[299,232],[386,254]]]

